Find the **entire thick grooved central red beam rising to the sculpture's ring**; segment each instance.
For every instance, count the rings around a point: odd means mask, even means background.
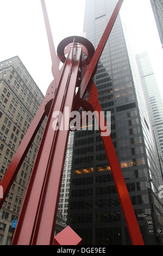
[[[82,49],[80,48],[80,53],[81,50]],[[54,130],[54,119],[52,116],[54,111],[63,112],[65,106],[69,107],[70,111],[72,110],[73,97],[78,78],[77,75],[80,64],[80,56],[77,56],[79,58],[78,66],[73,65],[73,70],[71,53],[69,54],[69,57],[66,59],[65,67],[62,71],[61,79],[57,88],[57,92],[55,93],[51,111],[48,115],[47,125],[45,132],[43,133],[39,151],[37,153],[32,176],[29,181],[26,197],[24,198],[12,244],[33,244],[33,239],[36,244],[52,244],[53,237],[51,236],[54,234],[54,220],[52,217],[50,218],[49,215],[52,214],[55,215],[54,217],[57,216],[57,203],[61,184],[60,179],[62,176],[62,166],[64,164],[66,143],[68,139],[68,129],[63,131],[57,129],[57,131]],[[69,83],[71,83],[70,87],[68,87]],[[61,101],[61,99],[64,99],[64,101]],[[57,164],[57,167],[54,167],[53,169],[54,160],[55,164]],[[51,172],[52,169],[53,172]],[[53,178],[51,175],[53,175]],[[52,189],[52,191],[48,193],[50,189]],[[44,199],[46,192],[48,193],[48,198]],[[37,222],[39,222],[41,218],[40,211],[47,211],[47,215],[43,215],[44,217],[41,221],[41,224],[38,225]],[[48,221],[51,222],[51,225],[47,224]],[[45,226],[43,225],[44,222],[46,222]],[[44,231],[42,230],[37,232],[39,229],[43,229],[43,227],[45,227]],[[48,232],[46,232],[47,229]],[[39,235],[39,240],[36,239],[36,234]]]

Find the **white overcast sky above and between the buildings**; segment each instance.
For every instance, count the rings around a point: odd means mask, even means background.
[[[56,49],[67,36],[82,35],[85,0],[46,0],[46,5]],[[41,1],[0,0],[0,7],[0,60],[18,55],[46,94],[53,76]],[[122,11],[133,33],[135,53],[148,52],[162,88],[163,51],[150,0],[124,0]]]

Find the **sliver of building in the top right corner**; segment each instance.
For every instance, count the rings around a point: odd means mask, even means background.
[[[163,2],[162,0],[151,0],[151,5],[163,48]]]

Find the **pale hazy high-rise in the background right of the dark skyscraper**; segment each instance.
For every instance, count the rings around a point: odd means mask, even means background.
[[[158,149],[161,174],[163,170],[163,101],[147,52],[136,55],[149,116]],[[163,175],[162,175],[163,177]]]

